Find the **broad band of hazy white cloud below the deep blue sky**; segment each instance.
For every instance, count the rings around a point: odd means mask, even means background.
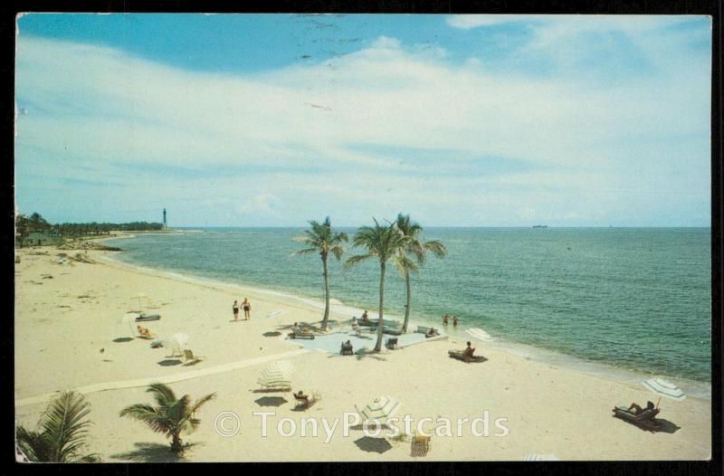
[[[472,28],[509,20],[465,15],[448,22]],[[537,30],[523,55],[555,57],[574,34],[562,22],[529,24]],[[618,25],[635,30],[628,20]],[[576,26],[582,27],[593,26]],[[604,220],[626,207],[626,196],[633,200],[627,190],[644,190],[635,200],[664,210],[662,194],[686,193],[700,181],[699,199],[708,201],[709,155],[701,146],[709,122],[708,65],[681,46],[685,38],[660,36],[633,35],[655,73],[596,89],[569,69],[502,77],[484,62],[455,64],[441,48],[405,48],[385,36],[329,61],[233,75],[21,34],[16,100],[27,114],[17,118],[20,191],[76,196],[81,192],[38,181],[102,179],[120,185],[107,189],[109,207],[153,190],[158,200],[185,204],[189,224],[195,206],[213,212],[202,200],[214,195],[233,200],[216,205],[234,210],[232,216],[267,215],[280,224],[331,212],[352,224],[400,210],[433,224],[464,224],[458,221],[471,215],[473,224],[511,224],[515,217],[532,219],[531,209],[564,220],[586,216],[586,207],[588,216]],[[666,52],[653,46],[657,39]],[[665,140],[674,137],[675,146]],[[461,160],[462,172],[415,176],[414,160],[391,161],[357,147],[364,144],[439,150],[441,169]],[[471,156],[535,167],[470,176],[457,157]],[[129,174],[120,163],[148,176]],[[167,176],[159,167],[199,174]],[[665,184],[659,195],[646,179]],[[615,199],[605,196],[611,190]],[[462,204],[459,216],[450,212]]]

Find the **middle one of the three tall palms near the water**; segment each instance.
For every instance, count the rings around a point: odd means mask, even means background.
[[[346,265],[351,266],[370,258],[379,260],[379,320],[377,323],[377,343],[375,352],[382,350],[382,307],[385,303],[385,272],[387,262],[399,260],[398,250],[405,246],[407,239],[400,232],[396,224],[381,225],[375,221],[375,226],[360,226],[357,229],[352,243],[355,246],[367,248],[365,254],[357,254],[347,260]]]

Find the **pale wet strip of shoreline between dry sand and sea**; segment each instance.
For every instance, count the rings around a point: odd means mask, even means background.
[[[124,236],[124,237],[131,237],[131,236]],[[110,240],[115,239],[115,237],[109,237],[109,238],[103,238],[102,240]],[[121,251],[125,252],[125,251]],[[271,299],[273,298],[280,298],[282,300],[287,300],[291,302],[297,302],[301,306],[305,307],[311,307],[317,310],[323,310],[324,309],[324,302],[315,300],[313,298],[310,298],[308,296],[301,296],[298,294],[293,294],[286,290],[270,290],[267,288],[260,288],[256,287],[253,284],[245,284],[245,283],[233,283],[233,282],[227,282],[227,281],[221,281],[216,280],[213,278],[205,278],[200,276],[194,276],[192,274],[184,274],[181,272],[176,271],[166,271],[162,269],[152,268],[148,267],[142,264],[137,264],[135,262],[125,262],[119,259],[113,258],[114,253],[119,252],[103,252],[100,254],[100,258],[103,259],[106,262],[119,264],[120,266],[129,269],[130,271],[138,271],[146,273],[150,276],[156,276],[161,278],[167,278],[167,279],[175,279],[178,281],[187,282],[190,284],[197,284],[200,286],[206,286],[210,287],[215,290],[239,290],[239,291],[249,291],[254,294],[264,295]],[[330,315],[347,315],[348,319],[351,319],[352,316],[359,316],[362,314],[361,308],[356,308],[352,305],[348,305],[340,300],[332,299],[331,300],[331,306],[330,306]],[[376,309],[368,309],[370,316],[374,319],[376,319]],[[402,322],[404,319],[404,316],[399,316],[396,314],[386,314],[386,319],[395,319]],[[439,321],[435,321],[433,319],[425,319],[425,318],[411,318],[410,319],[411,328],[414,328],[416,325],[423,325],[426,327],[435,327],[439,328],[445,331],[445,333],[453,340],[453,341],[463,341],[465,339],[470,339],[472,342],[476,342],[476,340],[472,339],[470,336],[467,335],[465,330],[467,328],[474,328],[474,325],[465,325],[461,324],[461,328],[453,328],[452,324],[450,324],[447,327],[443,327],[442,323]],[[687,395],[691,398],[698,398],[703,401],[710,401],[711,400],[711,383],[705,382],[705,381],[698,381],[693,380],[691,378],[681,377],[681,376],[669,376],[669,375],[662,375],[662,374],[650,374],[646,373],[641,369],[627,369],[627,368],[621,368],[621,367],[614,367],[605,363],[601,362],[595,362],[593,360],[586,360],[581,357],[575,357],[568,354],[565,354],[563,352],[558,352],[553,349],[549,349],[546,347],[536,347],[531,346],[529,344],[524,344],[520,342],[511,342],[506,340],[505,338],[500,338],[498,336],[491,336],[493,337],[492,342],[481,342],[478,341],[479,346],[484,347],[492,347],[497,350],[500,350],[501,352],[508,353],[510,355],[516,356],[516,357],[522,357],[526,358],[535,362],[540,362],[542,364],[548,364],[553,366],[559,366],[559,367],[565,367],[570,370],[574,370],[576,372],[580,372],[583,374],[586,374],[588,376],[598,376],[601,378],[605,378],[608,380],[611,380],[615,383],[626,385],[626,386],[640,386],[641,382],[647,378],[651,378],[652,376],[658,376],[662,377],[664,379],[671,379],[672,381],[677,382],[681,388],[683,388]]]

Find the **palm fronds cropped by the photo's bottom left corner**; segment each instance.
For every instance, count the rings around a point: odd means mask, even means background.
[[[32,462],[97,462],[96,454],[79,454],[85,446],[90,422],[85,397],[75,392],[62,392],[51,403],[38,422],[38,430],[17,427],[17,445]]]

